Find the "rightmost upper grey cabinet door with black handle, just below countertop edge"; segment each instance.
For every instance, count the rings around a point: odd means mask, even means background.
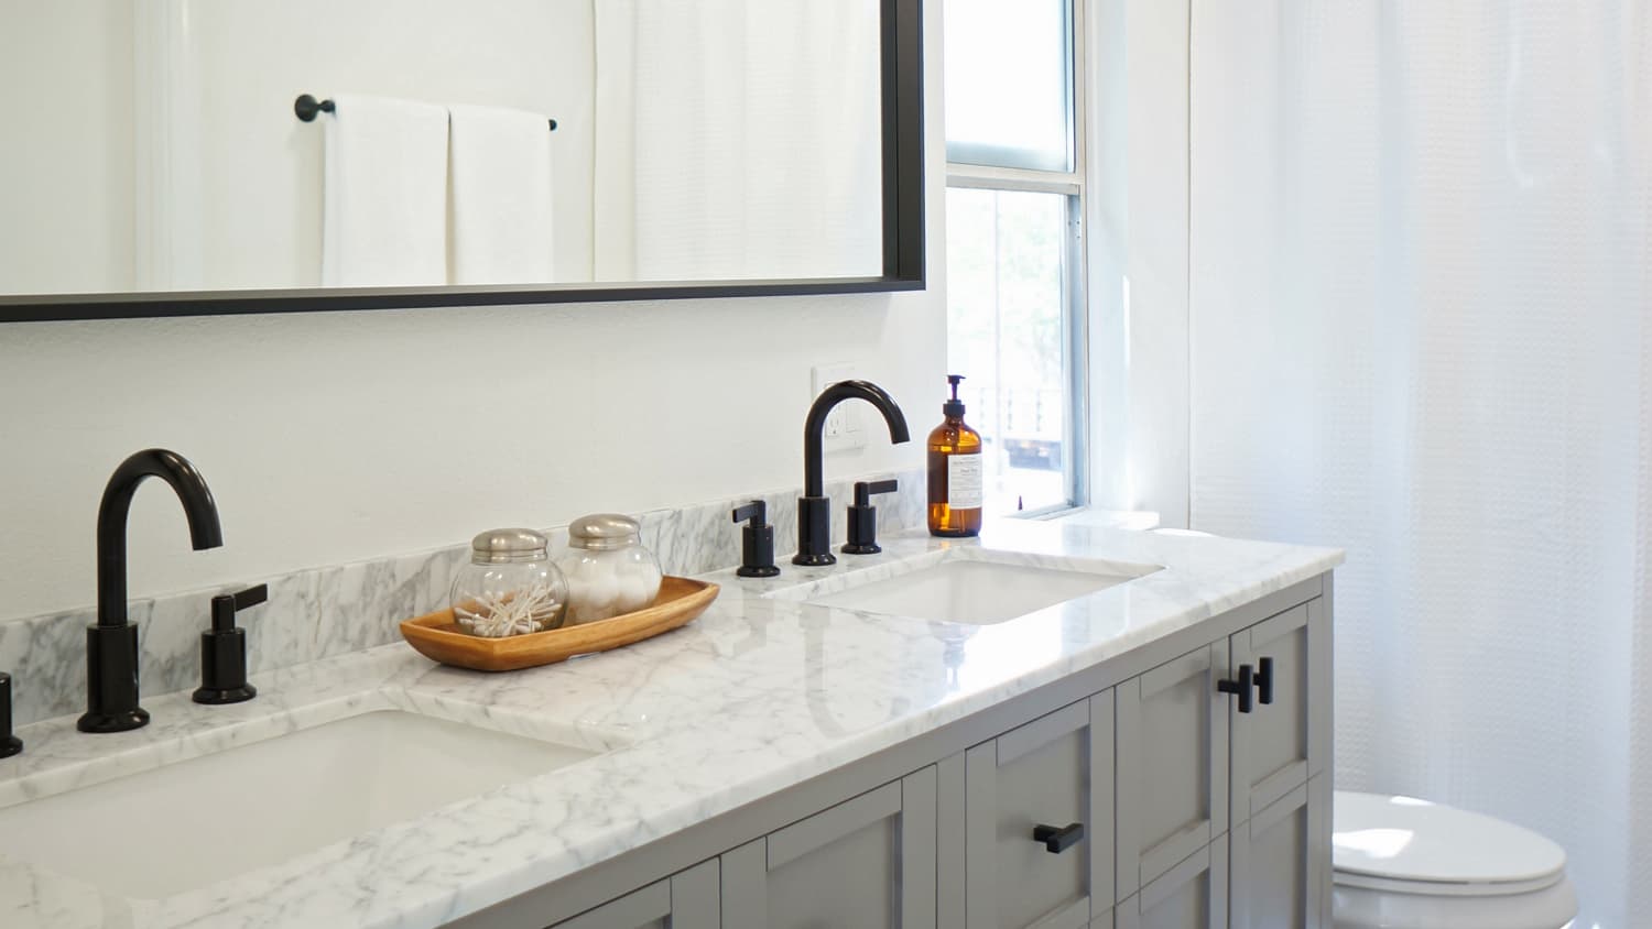
[[[1239,700],[1229,703],[1234,825],[1325,769],[1332,695],[1330,617],[1322,606],[1308,601],[1231,639],[1231,677],[1251,667],[1257,681],[1251,713],[1239,711]]]

